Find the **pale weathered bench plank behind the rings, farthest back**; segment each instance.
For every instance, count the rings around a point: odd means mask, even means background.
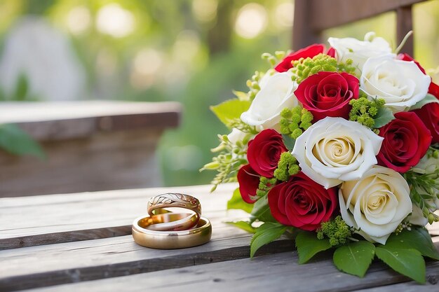
[[[0,250],[128,235],[134,218],[146,214],[149,197],[167,192],[194,195],[208,218],[226,218],[232,214],[226,207],[234,188],[230,183],[213,194],[210,186],[187,186],[1,198]]]

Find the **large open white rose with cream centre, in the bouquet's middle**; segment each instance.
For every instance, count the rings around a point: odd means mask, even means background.
[[[302,172],[325,188],[360,179],[377,164],[382,137],[344,118],[324,118],[297,138],[292,154]]]

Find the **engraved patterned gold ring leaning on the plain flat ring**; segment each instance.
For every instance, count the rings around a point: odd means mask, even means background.
[[[180,193],[166,193],[151,197],[147,205],[149,216],[156,214],[167,213],[164,208],[183,208],[193,211],[194,214],[189,214],[187,218],[176,220],[168,223],[155,223],[149,229],[158,231],[177,231],[187,230],[194,227],[201,217],[201,204],[191,195],[184,195]]]

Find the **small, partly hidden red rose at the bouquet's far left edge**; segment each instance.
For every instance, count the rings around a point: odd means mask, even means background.
[[[259,187],[259,174],[250,165],[244,165],[238,170],[239,193],[244,202],[253,204],[257,201],[256,190]]]

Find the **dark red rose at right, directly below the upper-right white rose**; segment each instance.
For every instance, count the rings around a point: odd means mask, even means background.
[[[379,128],[384,137],[377,155],[379,165],[396,172],[407,172],[417,165],[431,144],[431,134],[422,120],[413,112],[395,113],[395,119]]]

